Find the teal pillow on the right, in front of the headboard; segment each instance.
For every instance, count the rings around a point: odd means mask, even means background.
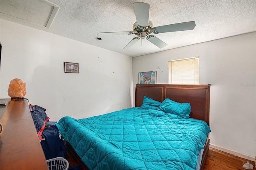
[[[159,108],[165,113],[172,113],[185,119],[189,118],[189,114],[191,112],[190,103],[178,103],[168,98],[161,103]]]

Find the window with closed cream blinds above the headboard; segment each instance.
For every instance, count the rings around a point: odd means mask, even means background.
[[[169,61],[169,84],[199,84],[199,57]]]

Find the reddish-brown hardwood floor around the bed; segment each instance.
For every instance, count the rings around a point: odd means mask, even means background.
[[[78,162],[75,158],[69,154],[68,162],[70,166],[78,166]],[[255,162],[222,152],[220,150],[209,148],[207,159],[204,165],[204,170],[245,170],[242,166],[250,162],[255,166]],[[255,167],[254,167],[255,169]]]

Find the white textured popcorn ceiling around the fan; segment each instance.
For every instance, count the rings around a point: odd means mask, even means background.
[[[33,3],[36,0],[18,1]],[[1,4],[3,2],[4,0],[0,0]],[[49,2],[60,6],[49,29],[2,13],[0,18],[132,57],[256,31],[256,0],[49,0]],[[196,27],[188,31],[154,34],[168,44],[162,49],[143,39],[130,49],[123,50],[132,38],[136,37],[134,34],[100,36],[102,40],[96,40],[99,37],[98,32],[132,31],[132,25],[136,22],[134,2],[150,4],[149,20],[153,22],[154,27],[188,21],[195,21]],[[25,8],[34,7],[26,5]],[[23,15],[22,12],[18,13]],[[29,17],[35,14],[30,12],[26,15]]]

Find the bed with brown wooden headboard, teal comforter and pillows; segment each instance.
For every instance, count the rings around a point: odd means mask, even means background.
[[[63,117],[56,126],[91,170],[202,169],[210,144],[209,99],[210,85],[137,84],[135,107]],[[185,114],[167,113],[168,102]]]

